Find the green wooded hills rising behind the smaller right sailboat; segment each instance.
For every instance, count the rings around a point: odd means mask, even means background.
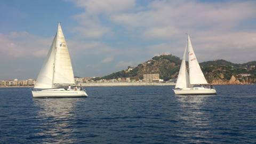
[[[151,60],[139,64],[132,70],[126,69],[101,77],[101,79],[116,79],[130,77],[131,79],[142,79],[143,74],[160,74],[160,78],[167,81],[177,78],[181,59],[175,55],[155,56]],[[239,82],[256,83],[256,61],[243,64],[232,63],[226,60],[213,60],[199,63],[205,78],[209,83],[221,81],[226,83],[231,76],[235,76]],[[241,76],[239,74],[250,74]]]

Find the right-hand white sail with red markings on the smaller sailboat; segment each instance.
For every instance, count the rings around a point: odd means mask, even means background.
[[[199,63],[196,59],[196,55],[193,50],[189,35],[188,35],[188,65],[189,65],[189,82],[191,85],[208,84],[199,66]]]

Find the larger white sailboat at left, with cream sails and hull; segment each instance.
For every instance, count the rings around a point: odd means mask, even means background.
[[[82,87],[71,89],[74,85],[75,79],[68,47],[60,23],[58,23],[58,30],[51,49],[32,90],[33,98],[88,96]]]

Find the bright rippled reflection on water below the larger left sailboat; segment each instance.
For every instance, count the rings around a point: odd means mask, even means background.
[[[71,143],[75,142],[73,120],[77,101],[81,99],[33,99],[38,108],[36,133],[30,137],[34,142]]]

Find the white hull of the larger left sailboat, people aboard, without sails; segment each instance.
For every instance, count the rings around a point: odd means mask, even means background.
[[[47,90],[33,90],[33,98],[75,98],[88,97],[85,91],[80,90],[65,90],[65,89],[47,89]]]

